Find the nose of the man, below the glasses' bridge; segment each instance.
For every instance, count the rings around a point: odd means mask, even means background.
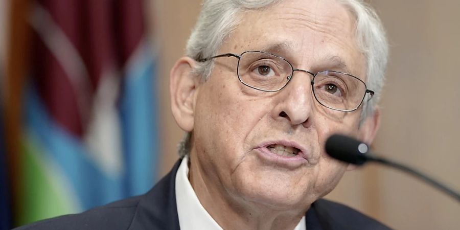
[[[309,127],[312,123],[313,94],[312,75],[306,71],[294,72],[291,81],[275,97],[276,105],[272,117],[286,119],[291,125]]]

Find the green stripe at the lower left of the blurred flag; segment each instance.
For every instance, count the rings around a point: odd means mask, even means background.
[[[31,135],[22,142],[24,197],[20,210],[24,213],[19,225],[81,211],[61,170],[43,151]]]

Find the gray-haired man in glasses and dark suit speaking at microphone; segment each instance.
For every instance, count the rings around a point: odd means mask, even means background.
[[[327,138],[374,139],[386,58],[360,1],[205,1],[171,70],[188,132],[172,172],[143,196],[23,229],[387,229],[320,199],[349,168]]]

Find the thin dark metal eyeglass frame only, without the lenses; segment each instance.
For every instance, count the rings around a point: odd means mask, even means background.
[[[252,85],[248,85],[247,83],[243,82],[243,81],[241,80],[240,74],[239,74],[239,71],[240,71],[240,68],[239,68],[239,67],[240,67],[240,60],[241,60],[241,56],[243,56],[243,54],[249,53],[249,52],[256,52],[256,53],[269,54],[269,55],[273,55],[273,56],[275,56],[275,57],[281,58],[282,60],[286,61],[286,63],[288,63],[289,66],[291,66],[291,70],[292,70],[291,75],[288,76],[289,79],[288,79],[288,81],[286,82],[286,84],[284,84],[284,86],[282,86],[281,88],[279,88],[279,89],[277,89],[277,90],[266,90],[266,89],[257,88],[257,87],[252,86]],[[257,89],[257,90],[260,90],[260,91],[264,91],[264,92],[269,92],[269,93],[278,92],[278,91],[280,91],[281,89],[283,89],[284,87],[286,87],[286,85],[288,85],[289,82],[291,82],[291,79],[292,79],[293,76],[294,76],[294,71],[300,71],[300,72],[308,73],[308,74],[310,74],[311,76],[313,76],[313,78],[312,78],[311,81],[310,81],[310,84],[311,84],[311,89],[312,89],[313,96],[315,97],[316,101],[317,101],[320,105],[322,105],[322,106],[324,106],[324,107],[326,107],[326,108],[332,109],[332,110],[336,110],[336,111],[342,111],[342,112],[352,112],[352,111],[355,111],[355,110],[358,109],[358,108],[362,105],[362,103],[364,102],[364,98],[366,97],[366,94],[370,94],[370,95],[371,95],[371,98],[368,99],[367,101],[371,100],[372,97],[374,97],[374,95],[375,95],[375,91],[373,91],[373,90],[371,90],[371,89],[368,89],[366,83],[365,83],[363,80],[361,80],[361,79],[359,79],[358,77],[353,76],[353,75],[351,75],[351,74],[343,73],[343,72],[340,72],[340,71],[330,71],[330,70],[324,70],[324,71],[320,71],[320,72],[318,72],[318,73],[316,73],[316,74],[313,74],[312,72],[307,71],[307,70],[302,70],[301,68],[294,68],[294,66],[292,66],[291,62],[289,62],[288,60],[286,60],[284,57],[281,57],[281,56],[276,55],[276,54],[271,54],[271,53],[268,53],[268,52],[264,52],[264,51],[249,50],[249,51],[244,51],[243,53],[241,53],[241,54],[239,54],[239,55],[238,55],[238,54],[233,54],[233,53],[225,53],[225,54],[215,55],[215,56],[212,56],[212,57],[209,57],[209,58],[200,58],[200,59],[198,59],[197,61],[198,61],[198,62],[205,62],[205,61],[209,61],[209,60],[211,60],[211,59],[219,58],[219,57],[236,57],[236,58],[238,59],[238,63],[237,63],[237,77],[238,77],[238,80],[239,80],[243,85],[246,85],[246,86],[248,86],[248,87],[250,87],[250,88],[254,88],[254,89]],[[347,75],[347,76],[350,76],[350,77],[353,77],[353,78],[359,80],[360,82],[362,82],[362,83],[364,84],[365,91],[364,91],[363,97],[362,97],[362,99],[361,99],[361,102],[356,106],[356,108],[354,108],[354,109],[348,109],[348,110],[346,110],[346,109],[331,108],[331,107],[329,107],[329,106],[323,104],[322,102],[320,102],[320,101],[318,100],[318,98],[316,97],[316,94],[315,94],[315,89],[314,89],[314,87],[313,87],[314,84],[315,84],[314,80],[315,80],[315,77],[316,77],[318,74],[324,73],[324,72],[332,72],[332,73],[338,73],[338,74]]]

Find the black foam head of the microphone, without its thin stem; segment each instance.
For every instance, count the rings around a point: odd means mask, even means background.
[[[366,144],[344,135],[334,134],[326,141],[326,152],[330,156],[354,165],[364,164],[368,151]]]

